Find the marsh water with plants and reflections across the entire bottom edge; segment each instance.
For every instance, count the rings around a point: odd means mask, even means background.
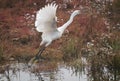
[[[108,68],[94,59],[88,64],[86,58],[72,62],[46,60],[32,67],[12,61],[0,65],[0,81],[120,81],[119,68],[115,67]]]

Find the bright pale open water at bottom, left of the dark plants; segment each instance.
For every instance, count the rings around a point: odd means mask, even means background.
[[[36,67],[41,66],[36,64],[28,68],[25,63],[9,64],[5,71],[0,73],[0,81],[87,81],[85,73],[76,74],[64,63],[57,63],[57,67],[46,71],[36,70]]]

